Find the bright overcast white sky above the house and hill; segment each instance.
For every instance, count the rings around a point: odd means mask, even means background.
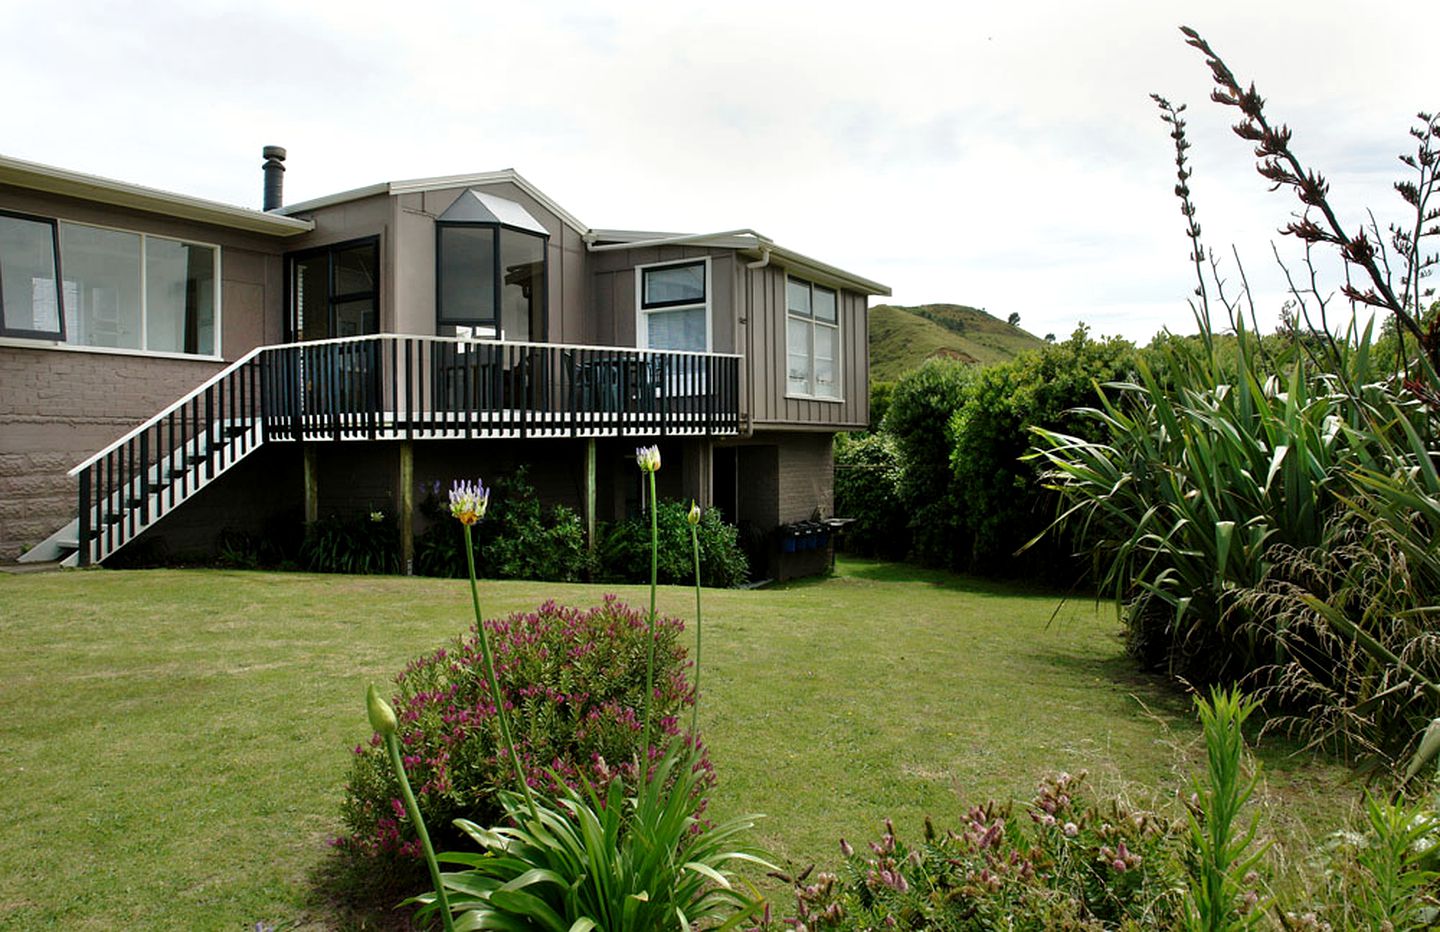
[[[1188,102],[1207,245],[1273,326],[1270,194],[1198,29],[1348,225],[1440,108],[1440,1],[135,3],[0,0],[7,156],[259,206],[513,167],[598,228],[753,228],[1044,336],[1189,331],[1194,271],[1151,92]],[[1280,243],[1297,261],[1292,243]],[[1333,285],[1333,279],[1332,279]]]

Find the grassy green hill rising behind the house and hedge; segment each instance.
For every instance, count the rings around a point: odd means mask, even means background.
[[[988,366],[1037,350],[1044,340],[963,304],[870,308],[870,377],[891,382],[943,356]]]

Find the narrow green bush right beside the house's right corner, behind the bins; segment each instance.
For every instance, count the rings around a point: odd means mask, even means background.
[[[835,438],[835,514],[855,519],[842,537],[847,550],[904,559],[910,529],[900,506],[900,457],[888,434]]]

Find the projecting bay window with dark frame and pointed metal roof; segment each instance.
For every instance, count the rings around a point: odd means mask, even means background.
[[[513,200],[461,194],[435,220],[438,331],[544,340],[549,236]]]

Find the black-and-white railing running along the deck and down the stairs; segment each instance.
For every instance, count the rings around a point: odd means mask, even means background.
[[[732,435],[740,359],[379,334],[252,350],[71,471],[99,562],[266,441]]]

